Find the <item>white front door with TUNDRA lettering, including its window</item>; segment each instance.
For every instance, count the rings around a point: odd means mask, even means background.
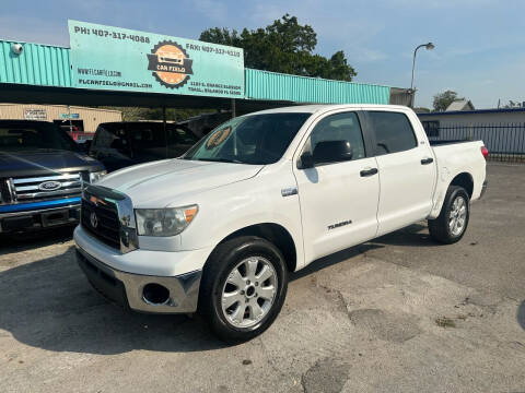
[[[318,162],[308,169],[294,165],[305,263],[370,240],[377,231],[377,165],[373,155],[366,154],[358,115],[339,112],[320,119],[301,154],[310,152],[315,158],[316,146],[326,141],[349,142],[352,157]]]

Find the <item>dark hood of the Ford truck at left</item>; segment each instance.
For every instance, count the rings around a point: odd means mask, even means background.
[[[70,151],[0,152],[0,178],[103,168],[96,159]]]

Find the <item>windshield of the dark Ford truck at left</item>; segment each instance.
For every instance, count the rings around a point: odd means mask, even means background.
[[[0,122],[0,152],[78,151],[74,141],[48,122]]]

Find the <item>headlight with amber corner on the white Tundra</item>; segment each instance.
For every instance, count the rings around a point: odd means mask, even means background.
[[[174,209],[136,209],[137,230],[144,236],[175,236],[191,223],[197,205]]]

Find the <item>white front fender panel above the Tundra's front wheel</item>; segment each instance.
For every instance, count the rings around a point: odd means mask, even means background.
[[[217,247],[225,237],[245,227],[272,223],[291,235],[303,265],[301,212],[298,194],[283,196],[284,189],[296,188],[291,162],[266,166],[257,176],[200,193],[195,201],[199,212],[180,235],[180,250]]]

